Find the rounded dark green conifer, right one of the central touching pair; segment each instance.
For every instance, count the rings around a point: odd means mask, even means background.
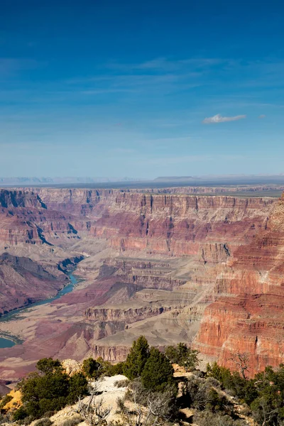
[[[162,392],[168,385],[173,385],[173,366],[158,349],[151,348],[141,380],[146,389],[154,392]]]

